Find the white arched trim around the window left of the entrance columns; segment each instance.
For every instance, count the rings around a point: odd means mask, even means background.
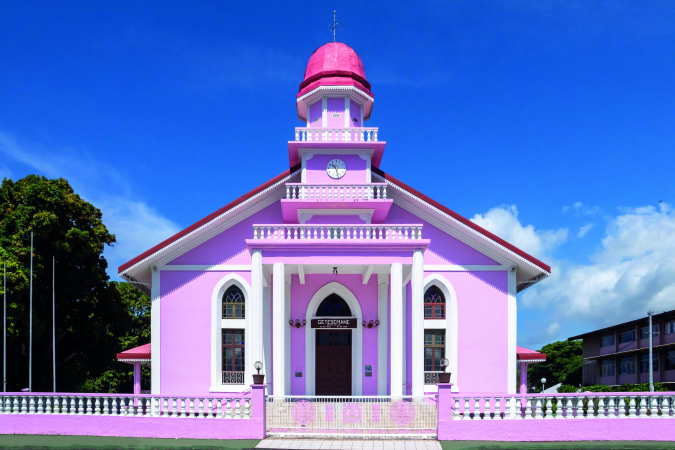
[[[241,292],[244,294],[244,304],[247,306],[251,304],[251,286],[236,273],[224,276],[213,288],[211,294],[211,386],[209,387],[209,392],[241,392],[241,390],[244,390],[242,388],[248,388],[248,384],[222,384],[223,380],[221,378],[223,368],[223,302],[221,299],[225,291],[233,284],[241,289]],[[249,334],[251,334],[251,327],[247,326],[248,316],[249,314],[246,314],[246,318],[244,319],[245,345],[250,342]],[[237,323],[241,324],[239,320],[237,320]],[[251,366],[248,361],[249,352],[246,349],[245,354],[244,380],[248,380],[251,376]]]

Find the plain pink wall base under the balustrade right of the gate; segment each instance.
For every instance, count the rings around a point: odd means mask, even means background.
[[[457,441],[673,441],[669,419],[441,420],[438,439]]]

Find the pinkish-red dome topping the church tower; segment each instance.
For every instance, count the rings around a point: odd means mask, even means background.
[[[318,86],[327,85],[352,85],[373,96],[361,58],[350,46],[341,42],[329,42],[312,53],[298,97]]]

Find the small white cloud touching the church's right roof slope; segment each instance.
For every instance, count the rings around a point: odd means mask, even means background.
[[[537,231],[533,225],[523,226],[516,205],[492,208],[485,215],[476,214],[471,221],[537,258],[550,255],[568,235],[566,228]]]

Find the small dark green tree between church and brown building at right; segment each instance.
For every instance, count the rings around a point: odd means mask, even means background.
[[[546,378],[547,386],[558,383],[572,386],[581,384],[583,364],[581,341],[552,342],[537,351],[546,353],[546,361],[528,365],[528,391],[541,390],[542,378]]]

